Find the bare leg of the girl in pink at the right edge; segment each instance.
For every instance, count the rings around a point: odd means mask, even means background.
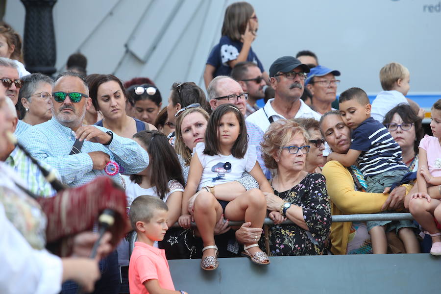
[[[411,199],[409,202],[409,211],[414,217],[414,219],[426,230],[429,234],[439,233],[440,230],[437,228],[435,221],[433,220],[435,215],[435,210],[441,204],[438,199],[431,199],[430,202],[427,199],[415,198]],[[437,210],[438,213],[438,210]],[[441,236],[433,236],[432,243],[441,242]]]

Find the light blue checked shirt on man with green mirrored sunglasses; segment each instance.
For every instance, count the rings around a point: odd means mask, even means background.
[[[108,129],[94,125],[106,132]],[[99,143],[85,141],[81,152],[69,155],[75,136],[71,128],[59,123],[55,118],[29,128],[19,139],[29,153],[58,170],[63,183],[71,186],[82,186],[98,176],[108,176],[104,170],[92,170],[93,162],[88,152],[102,151],[116,161],[125,174],[144,171],[148,166],[147,151],[135,141],[113,135],[112,143],[104,146]],[[119,174],[112,176],[118,184],[122,184]]]

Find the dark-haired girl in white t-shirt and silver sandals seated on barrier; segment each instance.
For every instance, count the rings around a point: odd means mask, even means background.
[[[255,147],[248,146],[247,141],[242,113],[232,104],[222,104],[208,121],[205,143],[197,143],[194,149],[178,222],[185,228],[190,227],[192,219],[196,222],[204,244],[200,264],[203,270],[215,270],[219,266],[213,231],[222,214],[231,221],[245,219],[251,222],[251,227],[263,225],[266,199],[262,191],[272,193],[272,190],[257,163]],[[257,180],[262,191],[252,189],[240,196],[215,198],[216,185],[238,180],[245,171]],[[253,263],[268,265],[268,256],[257,244],[259,239],[260,236],[255,236],[254,243],[245,244],[242,255]]]

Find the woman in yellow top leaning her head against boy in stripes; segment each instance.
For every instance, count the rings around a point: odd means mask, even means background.
[[[350,129],[343,123],[338,111],[327,112],[321,117],[320,131],[332,150],[339,153],[349,150]],[[407,206],[409,199],[405,196],[412,186],[397,187],[390,195],[361,192],[364,179],[358,179],[355,173],[353,169],[345,168],[334,160],[323,167],[322,174],[326,177],[332,215],[376,213]],[[357,180],[354,181],[354,178]],[[365,222],[333,222],[331,244],[331,252],[334,254],[371,253],[370,237]]]

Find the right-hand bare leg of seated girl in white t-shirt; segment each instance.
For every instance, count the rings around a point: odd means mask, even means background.
[[[261,228],[263,226],[265,215],[267,213],[267,201],[262,191],[259,189],[251,189],[241,196],[228,203],[225,208],[225,217],[231,221],[249,221],[251,227]],[[245,245],[256,244],[260,235],[256,236],[257,240],[253,243]],[[251,247],[248,249],[249,253],[254,255],[257,251],[262,251],[259,247]]]

